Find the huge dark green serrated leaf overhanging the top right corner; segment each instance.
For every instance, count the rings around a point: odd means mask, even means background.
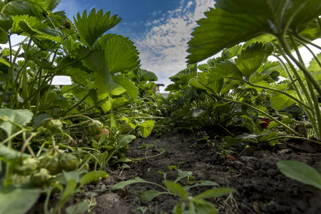
[[[320,15],[319,0],[218,0],[215,9],[205,12],[208,18],[198,21],[188,42],[188,63],[263,34],[286,34],[287,27],[300,32]]]

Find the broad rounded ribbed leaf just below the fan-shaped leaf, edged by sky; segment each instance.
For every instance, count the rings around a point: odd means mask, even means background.
[[[104,46],[106,65],[111,73],[139,66],[138,51],[128,38],[113,37],[106,41]]]

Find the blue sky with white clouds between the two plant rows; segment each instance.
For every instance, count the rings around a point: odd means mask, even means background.
[[[196,21],[213,6],[214,0],[62,0],[56,11],[64,10],[71,21],[85,9],[118,14],[122,21],[108,32],[134,41],[141,68],[156,73],[157,83],[168,85],[168,78],[186,67],[187,42]]]

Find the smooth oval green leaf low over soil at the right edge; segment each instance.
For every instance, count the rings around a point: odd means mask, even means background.
[[[310,165],[299,161],[279,161],[277,162],[277,168],[285,176],[321,190],[321,175]]]

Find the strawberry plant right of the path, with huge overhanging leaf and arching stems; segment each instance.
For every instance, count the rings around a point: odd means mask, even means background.
[[[218,58],[200,65],[189,83],[209,91],[224,102],[234,103],[258,113],[256,124],[278,127],[299,136],[293,123],[312,126],[321,139],[318,74],[321,63],[307,44],[320,49],[312,40],[320,38],[318,1],[216,1],[215,9],[205,12],[189,44],[188,63],[202,61],[222,51]],[[308,12],[308,15],[306,14]],[[235,25],[236,24],[236,25]],[[243,44],[242,44],[243,43]],[[314,56],[307,67],[298,48],[303,46]],[[297,55],[297,57],[294,56]],[[274,56],[278,61],[269,61]],[[282,77],[282,78],[281,78]],[[279,81],[279,79],[281,81]],[[237,94],[230,94],[237,88]],[[259,95],[260,94],[260,98]],[[265,97],[270,105],[266,106]],[[263,99],[262,99],[263,98]],[[304,111],[309,121],[297,121],[290,106]],[[271,121],[265,127],[261,118]]]

